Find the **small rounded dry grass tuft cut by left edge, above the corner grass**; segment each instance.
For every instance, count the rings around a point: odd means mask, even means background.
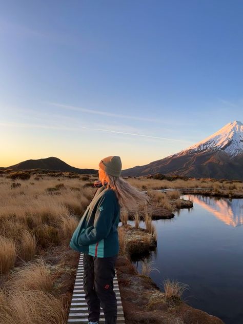
[[[16,261],[15,242],[7,237],[0,236],[0,274],[13,268]]]

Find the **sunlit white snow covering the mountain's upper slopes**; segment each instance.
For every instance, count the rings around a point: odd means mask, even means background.
[[[209,150],[222,150],[231,157],[243,152],[243,124],[235,120],[222,127],[213,135],[205,138],[187,148],[180,151],[179,155],[185,155],[190,152],[200,152]]]

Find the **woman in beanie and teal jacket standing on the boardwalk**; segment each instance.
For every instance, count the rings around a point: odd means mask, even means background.
[[[120,177],[122,161],[108,156],[99,163],[100,187],[70,241],[70,247],[83,252],[84,291],[88,304],[88,324],[98,324],[100,306],[105,324],[116,324],[117,302],[113,291],[115,262],[119,253],[120,207],[136,208],[149,197]]]

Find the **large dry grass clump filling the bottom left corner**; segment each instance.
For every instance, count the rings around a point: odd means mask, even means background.
[[[1,293],[0,324],[66,324],[63,301],[44,291]]]

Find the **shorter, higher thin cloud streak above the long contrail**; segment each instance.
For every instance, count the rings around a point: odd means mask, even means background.
[[[146,122],[154,122],[154,123],[159,122],[159,123],[161,123],[161,120],[158,120],[158,118],[147,118],[147,117],[115,114],[115,113],[110,113],[110,112],[101,111],[101,110],[93,110],[93,109],[87,109],[87,108],[82,108],[82,107],[63,105],[63,104],[58,104],[58,103],[53,103],[53,102],[45,102],[45,103],[49,104],[49,105],[52,105],[52,106],[55,106],[55,107],[68,109],[68,110],[85,112],[85,113],[89,113],[89,114],[99,114],[99,115],[105,115],[105,116],[111,116],[111,117],[127,118],[127,119],[135,119],[135,120],[144,120]]]

